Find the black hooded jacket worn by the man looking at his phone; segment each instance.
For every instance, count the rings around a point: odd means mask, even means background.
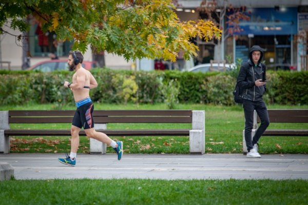
[[[258,64],[255,65],[252,54],[253,51],[260,51],[261,56]],[[265,70],[265,65],[261,63],[263,57],[263,50],[260,46],[253,46],[249,53],[249,60],[245,62],[240,69],[239,76],[237,78],[237,83],[241,89],[242,98],[252,101],[262,101],[263,94],[266,90],[264,86],[256,86],[255,81],[257,79],[262,79],[262,73]]]

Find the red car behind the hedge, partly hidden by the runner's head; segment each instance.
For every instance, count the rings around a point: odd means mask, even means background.
[[[94,61],[86,61],[82,62],[82,66],[90,70],[91,68],[96,68],[97,64]],[[41,71],[41,72],[52,72],[55,70],[68,70],[67,60],[44,60],[40,63],[35,64],[27,70],[33,71]]]

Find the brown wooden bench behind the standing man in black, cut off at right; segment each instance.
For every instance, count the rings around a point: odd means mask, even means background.
[[[267,111],[270,124],[308,123],[307,109],[268,109]],[[258,123],[260,122],[260,118],[255,111],[252,137],[258,129]],[[308,129],[266,129],[262,136],[308,136]],[[247,153],[245,130],[243,130],[243,152]]]

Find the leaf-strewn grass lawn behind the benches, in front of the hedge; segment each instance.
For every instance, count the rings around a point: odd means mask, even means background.
[[[167,109],[164,104],[157,105],[114,105],[94,104],[95,110],[159,110]],[[308,109],[308,106],[268,106],[268,109],[289,108]],[[50,110],[52,104],[0,106],[0,110]],[[73,106],[65,106],[64,110],[74,110]],[[205,110],[205,141],[206,153],[242,153],[242,130],[244,129],[244,113],[241,106],[213,106],[201,104],[179,104],[176,109]],[[17,129],[69,129],[70,124],[14,124]],[[177,129],[190,128],[188,124],[108,124],[108,129]],[[271,124],[269,129],[307,128],[306,124]],[[180,136],[166,137],[111,137],[123,140],[125,153],[189,153],[189,138]],[[89,152],[89,139],[80,138],[80,153]],[[301,153],[308,154],[308,137],[270,137],[264,136],[259,141],[260,153]],[[54,152],[70,151],[69,137],[11,137],[11,153],[23,152]],[[113,153],[111,148],[108,153]]]

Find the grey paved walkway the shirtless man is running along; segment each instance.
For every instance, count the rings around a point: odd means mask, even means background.
[[[149,179],[308,179],[308,155],[242,154],[168,155],[78,154],[76,167],[57,161],[64,154],[2,154],[16,179],[149,178]]]

